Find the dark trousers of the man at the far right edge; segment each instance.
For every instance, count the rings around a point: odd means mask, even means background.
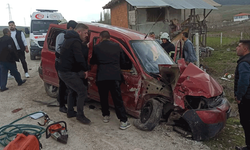
[[[245,132],[245,142],[250,147],[250,99],[242,99],[238,105],[240,114],[240,123],[243,126]]]

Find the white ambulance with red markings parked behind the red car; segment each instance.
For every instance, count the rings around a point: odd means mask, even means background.
[[[35,60],[36,56],[41,56],[44,40],[50,24],[66,22],[61,13],[57,10],[36,9],[31,17],[30,32],[30,59]]]

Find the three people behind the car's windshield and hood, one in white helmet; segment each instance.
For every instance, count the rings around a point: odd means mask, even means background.
[[[155,39],[156,42],[158,42],[162,48],[169,54],[169,56],[173,59],[175,55],[175,46],[173,43],[171,43],[170,36],[167,32],[164,32],[161,34],[161,42],[155,38],[155,33],[150,32],[149,37]],[[195,54],[193,43],[188,39],[188,33],[183,32],[182,33],[182,40],[184,41],[183,45],[183,58],[185,59],[186,64],[192,62],[195,63],[197,61],[197,57]]]

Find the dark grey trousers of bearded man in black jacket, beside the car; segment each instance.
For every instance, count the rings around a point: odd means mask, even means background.
[[[61,72],[58,71],[59,77],[64,81],[69,89],[68,93],[68,114],[74,111],[74,91],[77,93],[77,115],[83,115],[83,105],[87,99],[87,86],[83,83],[82,79],[77,72]]]

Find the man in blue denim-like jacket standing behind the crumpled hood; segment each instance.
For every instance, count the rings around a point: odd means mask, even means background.
[[[186,63],[194,63],[197,61],[197,57],[195,54],[193,43],[188,39],[188,33],[183,32],[182,33],[182,40],[184,41],[183,45],[183,52],[184,52],[184,59]]]

